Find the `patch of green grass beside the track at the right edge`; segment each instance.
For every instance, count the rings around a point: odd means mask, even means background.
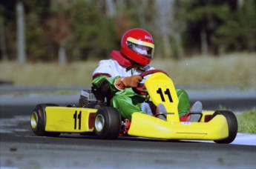
[[[237,115],[239,133],[256,133],[256,108]]]

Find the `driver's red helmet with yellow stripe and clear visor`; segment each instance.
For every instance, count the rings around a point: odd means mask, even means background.
[[[148,31],[134,28],[128,30],[121,41],[120,52],[131,62],[146,66],[154,55],[154,40]]]

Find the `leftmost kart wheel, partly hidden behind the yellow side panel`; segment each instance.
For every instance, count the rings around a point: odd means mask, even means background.
[[[45,122],[46,122],[46,113],[45,107],[58,106],[54,104],[40,104],[32,110],[30,116],[30,125],[33,130],[33,133],[36,136],[59,136],[60,133],[57,132],[47,132],[45,131]]]

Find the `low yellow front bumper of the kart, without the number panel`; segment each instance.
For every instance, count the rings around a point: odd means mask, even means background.
[[[128,134],[155,139],[218,140],[229,136],[229,127],[225,116],[221,115],[209,122],[166,122],[154,116],[134,113]]]

